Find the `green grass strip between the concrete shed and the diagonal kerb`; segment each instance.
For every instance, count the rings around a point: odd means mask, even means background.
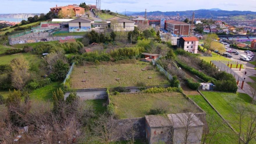
[[[212,123],[210,126],[210,134],[214,133],[214,130],[222,123],[221,117],[211,108],[211,106],[205,101],[201,95],[190,95],[189,96],[198,106],[200,106],[206,113],[207,123]],[[207,141],[209,143],[209,141]],[[220,127],[212,138],[211,144],[234,144],[237,143],[237,135],[227,125]]]

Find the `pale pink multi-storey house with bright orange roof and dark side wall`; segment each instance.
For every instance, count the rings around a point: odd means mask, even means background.
[[[196,37],[182,37],[177,39],[177,47],[183,48],[193,54],[197,54],[198,38]]]

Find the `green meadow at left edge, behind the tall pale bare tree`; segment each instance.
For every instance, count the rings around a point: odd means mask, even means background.
[[[27,61],[29,61],[29,64],[36,64],[40,65],[42,62],[42,58],[36,54],[33,54],[32,52],[28,53],[21,53],[21,54],[15,54],[15,55],[6,55],[0,57],[0,65],[3,64],[9,64],[10,61],[12,61],[14,58],[18,58],[20,56],[23,56]]]

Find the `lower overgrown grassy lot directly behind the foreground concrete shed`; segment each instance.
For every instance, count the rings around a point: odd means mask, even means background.
[[[181,113],[186,111],[188,106],[191,108],[191,103],[181,93],[119,94],[111,95],[110,101],[120,119],[150,115],[150,109],[163,103],[168,107],[167,113]]]

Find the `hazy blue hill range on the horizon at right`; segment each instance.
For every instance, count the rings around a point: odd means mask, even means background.
[[[181,16],[191,16],[192,12],[195,12],[195,17],[198,18],[214,18],[214,17],[228,17],[228,16],[236,16],[236,15],[247,15],[252,14],[256,15],[256,12],[252,11],[228,11],[228,10],[186,10],[186,11],[171,11],[171,12],[161,12],[161,11],[153,11],[147,12],[147,15],[156,15],[156,16],[175,16],[177,13]],[[145,12],[133,13],[132,15],[144,15]]]

